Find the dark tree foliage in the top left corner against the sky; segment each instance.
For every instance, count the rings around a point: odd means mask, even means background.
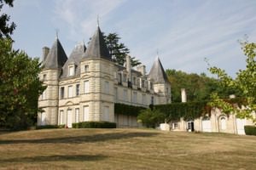
[[[6,3],[7,5],[9,5],[9,7],[13,7],[14,6],[14,0],[0,0],[0,11],[3,8],[3,4]],[[10,35],[13,33],[13,31],[15,30],[15,23],[12,22],[9,24],[9,15],[8,14],[2,14],[0,16],[0,38],[3,37],[8,37],[10,38]]]

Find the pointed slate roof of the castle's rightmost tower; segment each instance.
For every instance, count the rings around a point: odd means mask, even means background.
[[[159,57],[157,57],[154,60],[154,64],[149,71],[148,78],[154,79],[154,82],[157,83],[165,83],[169,82],[167,76],[166,76],[166,71],[163,68],[163,65],[160,62]]]

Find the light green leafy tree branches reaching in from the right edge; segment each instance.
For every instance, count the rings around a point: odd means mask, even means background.
[[[236,73],[236,78],[232,78],[227,73],[216,67],[210,67],[209,71],[218,76],[220,83],[227,88],[236,88],[241,91],[242,97],[246,100],[245,108],[241,105],[231,105],[230,103],[221,99],[218,94],[212,94],[212,101],[209,105],[221,108],[226,114],[236,114],[239,118],[249,118],[256,122],[253,111],[256,111],[256,43],[241,42],[241,49],[246,55],[246,69],[239,70]]]

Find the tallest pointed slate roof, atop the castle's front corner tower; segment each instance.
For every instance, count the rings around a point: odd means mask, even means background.
[[[83,59],[86,58],[103,58],[112,60],[99,26],[97,26],[96,32],[91,38],[89,46],[86,49]]]

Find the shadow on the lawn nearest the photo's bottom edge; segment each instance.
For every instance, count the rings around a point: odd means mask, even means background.
[[[0,163],[3,162],[40,162],[40,161],[101,161],[108,156],[102,155],[73,155],[73,156],[34,156],[34,157],[17,157],[10,159],[2,159]]]

